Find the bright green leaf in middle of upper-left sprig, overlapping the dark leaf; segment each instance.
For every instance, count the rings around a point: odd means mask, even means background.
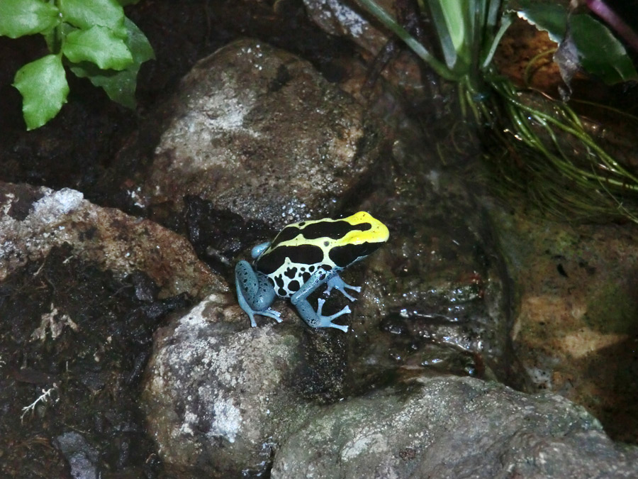
[[[98,25],[69,33],[62,53],[74,63],[93,62],[105,70],[124,70],[133,63],[124,41],[110,28]]]

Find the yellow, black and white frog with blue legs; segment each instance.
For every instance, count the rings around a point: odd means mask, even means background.
[[[323,299],[318,299],[315,311],[308,296],[324,283],[326,293],[339,290],[350,301],[354,297],[346,288],[357,292],[358,286],[347,285],[339,272],[362,260],[388,241],[388,228],[365,211],[342,219],[318,219],[289,224],[274,240],[252,248],[253,263],[240,261],[235,267],[235,285],[240,307],[250,317],[250,326],[257,326],[255,314],[269,316],[278,323],[280,313],[270,306],[276,297],[290,298],[299,316],[313,328],[348,326],[335,324],[333,319],[348,314],[349,307],[332,316],[321,314]]]

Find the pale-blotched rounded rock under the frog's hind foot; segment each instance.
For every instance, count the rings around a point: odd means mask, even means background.
[[[170,470],[233,477],[269,468],[311,409],[301,328],[250,328],[234,298],[213,294],[157,331],[142,397]]]

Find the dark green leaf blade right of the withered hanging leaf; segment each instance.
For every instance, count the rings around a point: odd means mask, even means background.
[[[638,79],[625,47],[606,26],[583,14],[571,16],[569,25],[578,58],[585,70],[607,84]]]

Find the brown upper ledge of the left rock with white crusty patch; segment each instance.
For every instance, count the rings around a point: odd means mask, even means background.
[[[204,297],[226,290],[181,236],[152,221],[97,207],[74,189],[0,182],[0,211],[0,281],[67,243],[79,258],[121,277],[144,272],[159,285],[159,297],[181,292]]]

